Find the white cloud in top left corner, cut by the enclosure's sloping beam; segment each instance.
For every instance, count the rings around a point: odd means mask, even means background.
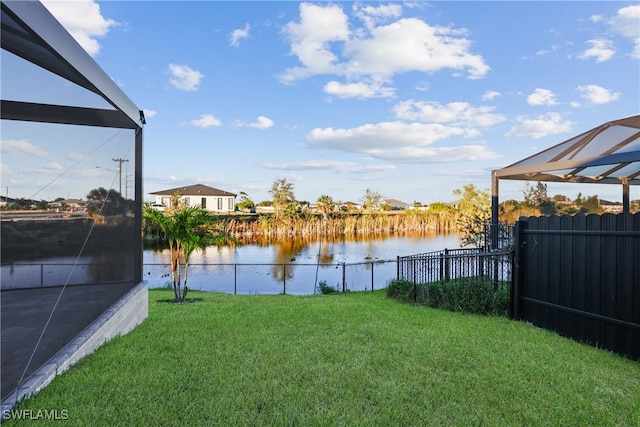
[[[42,0],[42,4],[91,56],[100,52],[96,38],[104,37],[117,25],[116,21],[102,16],[100,5],[93,0]]]

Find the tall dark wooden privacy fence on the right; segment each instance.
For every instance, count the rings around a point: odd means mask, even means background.
[[[523,218],[513,315],[640,358],[640,213]]]

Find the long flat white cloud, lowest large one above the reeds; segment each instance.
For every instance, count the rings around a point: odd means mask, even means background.
[[[367,154],[375,159],[407,163],[490,159],[496,154],[481,145],[432,147],[450,137],[467,137],[468,130],[437,123],[382,122],[352,129],[316,128],[307,134],[318,148]]]

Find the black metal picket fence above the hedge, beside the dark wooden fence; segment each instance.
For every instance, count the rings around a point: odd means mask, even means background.
[[[432,283],[465,277],[483,277],[494,282],[511,280],[511,252],[483,248],[445,249],[398,257],[400,280]]]

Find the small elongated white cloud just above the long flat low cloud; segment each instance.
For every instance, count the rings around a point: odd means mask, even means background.
[[[403,101],[396,104],[393,111],[399,119],[423,123],[449,123],[456,126],[493,126],[506,118],[495,114],[495,107],[474,107],[467,102]]]

